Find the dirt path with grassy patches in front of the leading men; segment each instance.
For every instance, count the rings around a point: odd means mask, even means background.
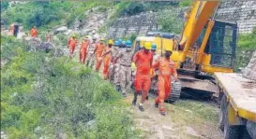
[[[125,102],[130,105],[132,98]],[[166,104],[167,115],[158,114],[154,100],[144,104],[144,112],[129,106],[136,128],[145,139],[221,139],[218,130],[218,108],[195,101]]]

